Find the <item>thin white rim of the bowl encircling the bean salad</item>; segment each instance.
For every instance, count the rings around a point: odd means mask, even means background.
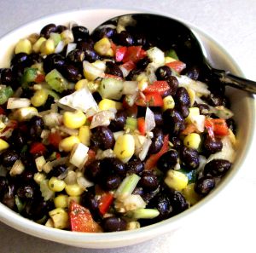
[[[181,18],[178,18],[177,16],[173,14],[168,14],[164,12],[157,12],[154,10],[149,10],[149,9],[122,9],[122,8],[87,8],[87,9],[72,9],[68,11],[62,11],[62,12],[57,12],[54,14],[49,14],[46,16],[39,17],[38,19],[26,22],[22,26],[15,27],[14,30],[11,32],[7,32],[3,34],[3,36],[0,38],[0,41],[2,40],[3,37],[9,37],[12,36],[13,33],[17,32],[18,30],[23,30],[26,28],[26,26],[31,26],[32,23],[36,21],[41,21],[44,22],[44,20],[49,20],[51,17],[56,17],[56,16],[61,16],[63,14],[83,14],[84,12],[90,12],[90,11],[99,11],[99,10],[108,10],[108,11],[122,11],[127,14],[131,13],[149,13],[149,14],[161,14],[165,15],[167,17],[171,17],[173,19],[179,20],[183,22],[184,24],[188,25],[191,27],[195,32],[198,32],[199,34],[202,34],[204,37],[207,37],[213,44],[217,46],[218,49],[223,52],[223,54],[231,61],[231,65],[235,68],[236,73],[240,74],[241,76],[244,76],[243,72],[241,71],[240,66],[236,63],[236,60],[233,59],[233,57],[227,52],[226,49],[216,41],[214,38],[212,38],[211,35],[209,35],[208,32],[204,32],[204,30],[201,30],[197,26],[191,24],[190,22],[183,20]],[[68,21],[68,20],[67,20]],[[246,95],[248,98],[252,98],[252,95]],[[253,105],[253,101],[249,101]],[[255,106],[252,106],[252,112],[251,115],[253,115],[253,118],[255,118]],[[253,137],[253,128],[255,126],[255,122],[252,123],[251,128],[249,129],[251,136]],[[239,170],[241,170],[241,166],[244,164],[244,161],[247,158],[247,151],[250,149],[252,146],[253,138],[251,138],[251,141],[248,141],[247,143],[247,148],[246,148],[246,153],[244,155],[243,161],[239,164]],[[237,175],[239,170],[233,171],[232,175],[229,175],[229,179],[233,179],[235,175]],[[229,181],[230,181],[229,180]],[[177,216],[173,216],[170,219],[167,219],[165,221],[160,221],[158,223],[155,223],[153,225],[147,226],[147,227],[141,227],[137,230],[132,230],[132,231],[122,231],[122,232],[113,232],[113,233],[78,233],[78,232],[70,232],[70,231],[65,231],[65,230],[60,230],[60,229],[52,229],[51,227],[45,227],[44,225],[40,225],[34,221],[30,221],[13,210],[9,210],[8,207],[6,207],[3,204],[0,204],[0,221],[3,221],[3,223],[9,225],[10,227],[14,227],[15,229],[20,230],[21,232],[28,233],[33,236],[37,236],[43,239],[49,239],[55,242],[59,242],[62,244],[84,244],[86,247],[100,247],[100,244],[104,243],[111,243],[111,242],[124,242],[124,241],[133,241],[136,240],[137,238],[151,238],[153,237],[152,234],[157,234],[160,235],[162,233],[169,232],[173,229],[176,229],[179,227],[179,224],[188,221],[188,218],[191,219],[190,217],[192,215],[199,215],[200,211],[203,210],[203,207],[205,205],[213,202],[213,200],[216,200],[216,197],[218,193],[222,192],[224,187],[227,187],[227,182],[226,183],[221,183],[218,185],[218,187],[211,193],[209,194],[206,198],[202,199],[198,204],[195,204],[195,206],[192,206],[189,208],[189,210],[183,211],[181,214]],[[37,233],[40,233],[38,235]],[[66,240],[66,241],[65,241]],[[101,247],[100,247],[101,248]],[[106,248],[106,247],[105,247]]]

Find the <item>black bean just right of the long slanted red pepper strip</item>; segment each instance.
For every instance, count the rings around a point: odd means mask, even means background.
[[[165,152],[157,162],[157,168],[163,172],[172,169],[177,164],[178,153],[172,149]]]

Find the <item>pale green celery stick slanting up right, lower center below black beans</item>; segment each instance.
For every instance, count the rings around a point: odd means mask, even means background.
[[[136,174],[127,175],[125,179],[121,182],[118,189],[114,193],[115,198],[125,198],[133,192],[135,187],[137,186],[138,181],[140,181],[140,177]]]

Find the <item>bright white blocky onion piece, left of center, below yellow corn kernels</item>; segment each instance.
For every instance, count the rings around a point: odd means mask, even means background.
[[[82,168],[88,159],[88,150],[89,147],[83,143],[74,145],[69,158],[70,164],[73,164],[79,169]]]

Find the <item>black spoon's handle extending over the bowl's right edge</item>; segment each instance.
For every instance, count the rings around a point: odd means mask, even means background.
[[[230,72],[218,69],[212,69],[212,72],[216,74],[219,80],[226,85],[232,86],[237,89],[246,90],[253,94],[256,94],[256,82],[248,80],[246,78],[239,78]]]

